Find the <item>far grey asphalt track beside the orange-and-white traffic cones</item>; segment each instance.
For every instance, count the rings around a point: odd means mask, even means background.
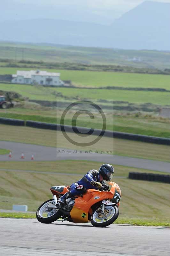
[[[103,163],[108,162],[112,164],[143,168],[159,172],[170,172],[170,163],[168,162],[154,161],[141,158],[116,155],[113,156],[104,154],[75,154],[73,153],[73,150],[69,150],[69,153],[62,153],[62,151],[66,151],[66,149],[44,147],[10,141],[0,141],[0,148],[6,148],[12,151],[12,158],[9,158],[8,155],[0,155],[0,161],[31,161],[31,155],[34,154],[35,161],[56,161],[64,159],[89,160]],[[58,150],[60,151],[60,153],[57,153]],[[24,159],[20,158],[21,153],[24,153]]]

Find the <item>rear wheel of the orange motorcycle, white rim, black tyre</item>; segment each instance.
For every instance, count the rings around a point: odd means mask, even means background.
[[[62,213],[58,209],[49,209],[47,206],[55,205],[53,199],[49,199],[40,205],[36,212],[36,218],[41,223],[51,223],[58,220]]]

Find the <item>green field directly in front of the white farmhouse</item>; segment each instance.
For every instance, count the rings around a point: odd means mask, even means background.
[[[0,84],[0,90],[18,92],[30,100],[55,101],[56,93],[69,98],[78,96],[80,99],[102,99],[114,101],[128,101],[131,103],[152,103],[157,105],[170,105],[170,92],[124,91],[108,89],[78,89],[78,88],[47,88],[42,86],[22,84]],[[60,98],[58,98],[59,100]],[[63,99],[63,98],[61,98]],[[60,100],[61,100],[60,99]]]

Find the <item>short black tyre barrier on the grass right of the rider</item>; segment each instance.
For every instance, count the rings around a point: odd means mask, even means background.
[[[129,172],[128,178],[132,180],[147,180],[170,183],[170,175],[156,173]]]

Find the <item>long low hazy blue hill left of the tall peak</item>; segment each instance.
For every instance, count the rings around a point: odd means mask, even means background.
[[[0,40],[91,46],[101,40],[100,32],[107,28],[104,25],[67,20],[5,21],[0,23]]]

